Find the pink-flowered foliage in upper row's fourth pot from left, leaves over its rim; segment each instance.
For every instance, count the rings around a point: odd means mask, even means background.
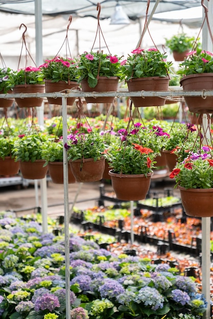
[[[99,76],[117,76],[124,78],[121,70],[121,58],[104,54],[102,51],[84,52],[78,61],[79,83],[86,79],[90,88],[96,87]]]

